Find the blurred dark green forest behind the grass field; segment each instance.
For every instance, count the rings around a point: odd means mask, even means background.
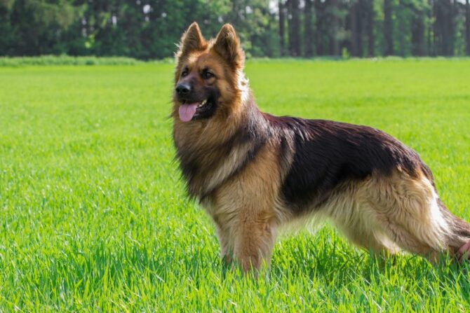
[[[248,57],[470,55],[469,0],[0,0],[0,55],[161,59],[193,21]]]

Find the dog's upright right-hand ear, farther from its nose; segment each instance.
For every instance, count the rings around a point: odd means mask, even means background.
[[[215,39],[213,49],[224,57],[232,67],[243,67],[245,55],[240,48],[239,37],[236,36],[235,29],[230,24],[222,26],[222,29],[220,29],[217,35],[217,39]]]

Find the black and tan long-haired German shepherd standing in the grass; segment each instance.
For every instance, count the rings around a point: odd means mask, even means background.
[[[206,41],[194,22],[175,58],[177,160],[226,262],[269,264],[276,230],[306,218],[375,253],[467,260],[470,224],[445,207],[415,151],[371,127],[262,113],[231,25]]]

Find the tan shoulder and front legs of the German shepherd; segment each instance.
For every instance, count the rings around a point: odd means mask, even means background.
[[[233,179],[217,189],[209,211],[217,225],[222,256],[241,263],[243,270],[269,263],[279,216],[274,210],[281,176],[275,146],[265,146]]]

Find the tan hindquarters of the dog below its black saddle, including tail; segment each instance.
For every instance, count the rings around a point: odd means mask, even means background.
[[[470,239],[470,224],[448,211],[426,176],[396,170],[351,184],[338,197],[349,205],[329,205],[328,215],[359,246],[391,253],[398,246],[436,260],[446,251],[455,256]]]

